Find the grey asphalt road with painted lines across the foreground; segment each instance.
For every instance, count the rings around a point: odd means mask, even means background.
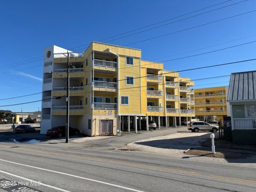
[[[1,143],[0,191],[256,191],[253,167],[113,150],[114,142],[124,139]]]

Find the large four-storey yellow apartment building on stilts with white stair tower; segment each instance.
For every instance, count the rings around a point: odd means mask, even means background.
[[[141,60],[141,50],[92,42],[84,52],[44,50],[41,134],[65,125],[69,52],[70,127],[87,135],[177,126],[195,117],[194,82]]]

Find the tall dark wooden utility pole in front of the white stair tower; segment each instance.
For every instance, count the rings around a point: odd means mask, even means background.
[[[66,143],[69,142],[69,53],[68,53],[68,62],[67,62],[67,117],[66,117]]]

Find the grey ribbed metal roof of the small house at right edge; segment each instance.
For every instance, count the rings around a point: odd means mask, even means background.
[[[256,71],[231,73],[227,100],[256,100]]]

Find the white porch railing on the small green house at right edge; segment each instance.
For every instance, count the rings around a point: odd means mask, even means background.
[[[234,118],[235,130],[256,130],[256,118]]]

